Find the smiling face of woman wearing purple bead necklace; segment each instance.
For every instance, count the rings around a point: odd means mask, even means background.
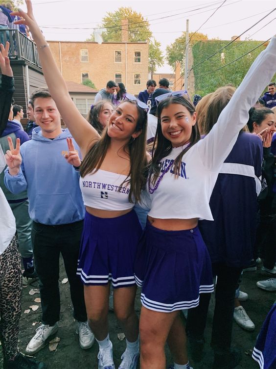
[[[196,112],[191,114],[181,104],[164,107],[160,116],[163,136],[171,141],[173,147],[184,145],[191,137],[196,117]]]

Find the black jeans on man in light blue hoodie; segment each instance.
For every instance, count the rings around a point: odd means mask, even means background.
[[[73,316],[86,321],[83,285],[76,275],[83,221],[49,226],[32,224],[32,244],[36,271],[40,279],[42,322],[54,325],[60,315],[59,257],[62,254],[70,284]]]

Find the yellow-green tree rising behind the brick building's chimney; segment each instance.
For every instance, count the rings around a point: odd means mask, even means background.
[[[130,42],[148,41],[149,42],[149,70],[155,71],[156,67],[163,64],[163,55],[161,52],[161,43],[155,38],[151,41],[152,32],[149,22],[131,7],[120,7],[115,12],[108,12],[102,19],[102,24],[98,27],[106,28],[102,33],[105,42],[120,42],[122,39],[121,21],[128,20],[128,40]],[[87,41],[94,41],[94,36]]]

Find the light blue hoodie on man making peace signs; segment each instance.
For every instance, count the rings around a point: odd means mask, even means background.
[[[12,193],[27,189],[30,218],[48,225],[69,224],[84,218],[79,172],[63,157],[68,151],[68,129],[53,140],[42,135],[40,127],[20,148],[23,158],[17,176],[5,170],[4,183]],[[79,150],[74,142],[76,150]]]

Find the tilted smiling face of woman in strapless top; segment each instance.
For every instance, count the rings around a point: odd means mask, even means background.
[[[111,138],[128,141],[136,138],[140,132],[136,132],[138,121],[138,109],[136,104],[123,102],[117,106],[111,114],[108,122],[107,133]]]

